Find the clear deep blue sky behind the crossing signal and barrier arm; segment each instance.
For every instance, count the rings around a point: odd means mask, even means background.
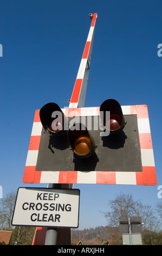
[[[100,106],[108,98],[148,106],[158,185],[75,185],[81,191],[79,229],[105,226],[100,211],[108,211],[108,200],[121,191],[144,204],[161,202],[161,1],[2,0],[0,5],[3,195],[35,186],[22,182],[35,110],[47,102],[68,106],[90,28],[88,14],[98,13],[85,106]]]

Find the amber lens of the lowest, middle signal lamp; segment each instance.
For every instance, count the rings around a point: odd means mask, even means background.
[[[73,143],[73,149],[76,154],[85,155],[90,151],[90,138],[88,135],[80,135],[76,137]]]

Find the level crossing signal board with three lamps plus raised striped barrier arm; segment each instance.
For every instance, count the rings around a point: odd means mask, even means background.
[[[23,182],[156,185],[147,106],[107,99],[85,107],[98,15],[89,17],[69,108],[50,102],[36,110]]]

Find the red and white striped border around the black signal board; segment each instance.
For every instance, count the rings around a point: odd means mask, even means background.
[[[73,117],[74,111],[81,116],[99,115],[100,107],[64,108],[66,117]],[[27,161],[25,164],[24,183],[51,184],[127,184],[127,185],[157,185],[155,164],[152,148],[150,123],[146,105],[122,106],[124,115],[136,114],[141,148],[142,172],[38,172],[36,163],[41,141],[42,124],[39,110],[36,110],[31,132]]]

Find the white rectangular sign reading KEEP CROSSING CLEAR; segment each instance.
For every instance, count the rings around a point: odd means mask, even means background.
[[[20,187],[12,225],[77,228],[79,200],[80,190]]]

